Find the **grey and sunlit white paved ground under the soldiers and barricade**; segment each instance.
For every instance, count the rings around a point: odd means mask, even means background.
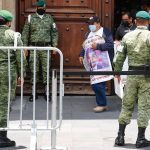
[[[23,119],[27,123],[32,120],[32,103],[24,98]],[[37,123],[45,123],[46,102],[40,97],[36,104]],[[57,145],[67,147],[68,150],[130,150],[135,149],[134,143],[137,135],[136,112],[133,114],[131,124],[126,129],[126,146],[115,147],[114,139],[117,135],[117,118],[120,112],[121,100],[116,96],[108,97],[109,110],[103,113],[93,113],[95,106],[94,96],[66,96],[64,97],[64,121],[62,128],[57,133]],[[14,102],[11,111],[10,126],[16,126],[19,118],[19,98]],[[24,122],[23,122],[24,123]],[[146,137],[150,139],[150,127],[147,129]],[[9,131],[9,137],[16,141],[15,148],[3,150],[29,150],[29,131]],[[51,145],[50,132],[38,132],[38,149]],[[143,150],[149,150],[145,148]]]

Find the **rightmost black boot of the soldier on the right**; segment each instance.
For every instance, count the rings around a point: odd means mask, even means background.
[[[136,148],[148,147],[150,146],[150,141],[145,139],[145,130],[146,128],[138,128],[138,137],[136,140]]]

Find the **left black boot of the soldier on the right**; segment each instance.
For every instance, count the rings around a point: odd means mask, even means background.
[[[126,128],[126,124],[119,124],[119,131],[118,131],[118,136],[115,139],[115,145],[124,146],[125,128]]]

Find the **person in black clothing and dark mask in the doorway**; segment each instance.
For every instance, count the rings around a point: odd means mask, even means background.
[[[132,31],[135,30],[136,25],[133,23],[133,19],[129,12],[124,12],[122,14],[122,21],[120,26],[117,28],[116,34],[115,34],[115,40],[121,41],[123,36]]]

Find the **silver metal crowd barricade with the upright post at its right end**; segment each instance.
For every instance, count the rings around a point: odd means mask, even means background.
[[[24,49],[34,51],[34,73],[33,73],[33,121],[30,128],[25,128],[23,125],[23,86],[21,86],[21,103],[20,103],[20,120],[17,128],[10,128],[10,99],[11,99],[11,67],[10,67],[10,50],[21,50],[21,78],[23,78],[23,51]],[[8,76],[9,76],[9,91],[8,91],[8,114],[7,114],[7,127],[0,128],[0,130],[14,130],[14,131],[26,131],[31,130],[30,138],[30,150],[37,150],[37,131],[51,131],[51,147],[43,147],[41,150],[67,150],[63,147],[56,146],[56,130],[61,127],[62,114],[63,114],[63,96],[64,96],[64,84],[63,84],[63,54],[55,47],[0,47],[0,50],[8,50]],[[47,108],[46,108],[46,127],[37,128],[35,119],[35,91],[36,91],[36,52],[47,51]],[[50,51],[56,51],[60,55],[60,72],[59,72],[59,121],[57,122],[57,70],[52,71],[52,111],[51,111],[51,127],[49,127],[49,62]]]

